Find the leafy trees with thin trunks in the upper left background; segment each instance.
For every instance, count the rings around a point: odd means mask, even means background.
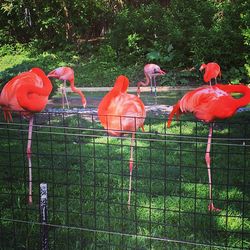
[[[40,40],[43,48],[99,36],[119,1],[4,1],[0,44]]]

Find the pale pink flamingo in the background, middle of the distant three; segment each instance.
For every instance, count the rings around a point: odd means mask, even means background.
[[[146,77],[146,82],[137,83],[137,95],[140,97],[140,86],[148,86],[150,83],[151,93],[153,92],[153,83],[154,83],[154,93],[156,96],[156,80],[155,77],[159,75],[165,75],[166,72],[161,70],[161,68],[156,64],[146,64],[144,67],[144,74]]]

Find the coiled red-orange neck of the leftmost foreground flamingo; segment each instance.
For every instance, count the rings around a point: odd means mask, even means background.
[[[52,91],[52,84],[45,73],[40,69],[32,69],[30,73],[34,75],[27,79],[26,84],[21,85],[16,93],[20,106],[31,112],[42,111],[48,101],[48,96]],[[40,77],[43,82],[42,87],[35,85],[35,78]]]

